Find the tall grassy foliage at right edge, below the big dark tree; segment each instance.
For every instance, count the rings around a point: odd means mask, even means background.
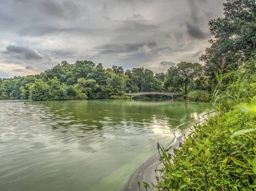
[[[250,66],[250,62],[243,66]],[[223,71],[216,72],[218,87],[215,89],[215,106],[220,110],[230,110],[240,103],[250,103],[256,95],[256,73],[253,69],[244,67],[238,69],[228,67]],[[255,67],[255,65],[253,66]],[[251,66],[249,68],[252,68]]]

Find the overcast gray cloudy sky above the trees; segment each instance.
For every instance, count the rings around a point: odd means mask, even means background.
[[[0,77],[92,60],[166,72],[199,62],[224,0],[0,0]]]

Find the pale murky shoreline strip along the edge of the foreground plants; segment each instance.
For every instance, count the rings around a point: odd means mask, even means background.
[[[199,115],[199,123],[198,124],[203,124],[205,123],[205,120],[207,119],[206,117],[211,116],[211,114],[215,112],[215,110],[211,110],[209,112],[204,112]],[[183,142],[185,140],[185,136],[187,136],[191,131],[193,130],[193,126],[185,129],[182,134],[177,136],[175,138],[175,141],[172,143],[169,143],[169,145],[166,145],[166,147],[172,146],[173,148],[179,147],[179,142]],[[172,153],[173,151],[171,151]],[[135,172],[134,174],[131,175],[129,178],[127,184],[125,187],[122,189],[122,191],[139,191],[139,185],[138,181],[140,182],[147,182],[150,187],[152,187],[152,184],[157,185],[157,180],[156,177],[160,179],[161,172],[155,171],[156,167],[157,169],[160,169],[163,166],[163,164],[159,164],[159,154],[156,152],[152,157],[150,157],[148,160],[146,160],[143,165],[141,165]],[[158,165],[158,166],[157,166]]]

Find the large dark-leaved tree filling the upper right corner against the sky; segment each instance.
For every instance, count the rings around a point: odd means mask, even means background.
[[[255,0],[227,0],[224,17],[209,21],[211,47],[200,60],[220,65],[222,58],[226,64],[235,64],[239,59],[251,56],[256,43],[256,2]]]

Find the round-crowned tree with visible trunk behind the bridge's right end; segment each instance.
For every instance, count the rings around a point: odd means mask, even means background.
[[[177,64],[177,77],[185,86],[185,94],[187,94],[187,85],[190,80],[199,78],[202,75],[203,67],[199,63],[181,62]]]

